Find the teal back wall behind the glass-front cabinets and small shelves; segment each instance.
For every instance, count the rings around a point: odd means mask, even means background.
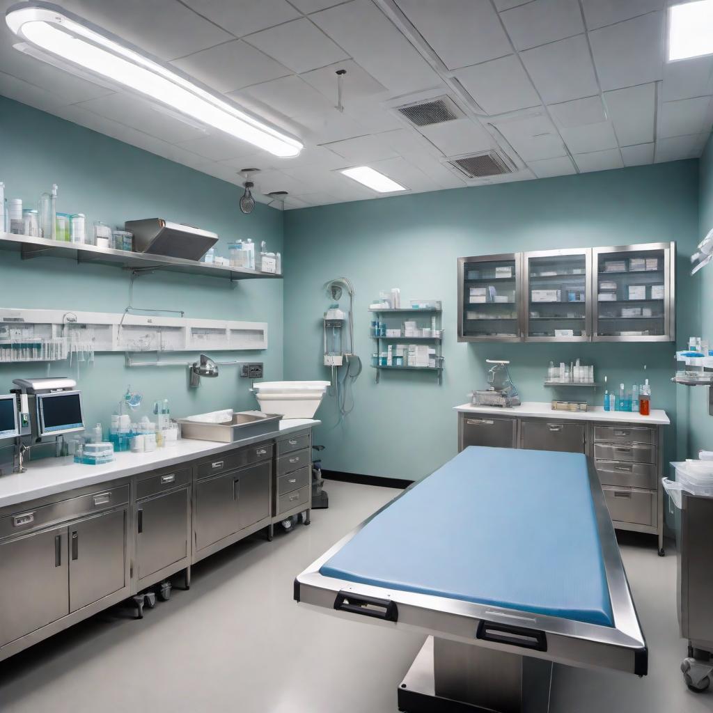
[[[354,385],[352,414],[337,423],[334,399],[322,405],[315,441],[327,446],[324,466],[337,471],[421,478],[456,453],[452,407],[485,383],[486,358],[511,359],[523,400],[553,394],[543,380],[550,359],[580,356],[597,379],[631,384],[647,376],[653,405],[677,417],[673,344],[458,344],[456,258],[493,252],[629,245],[676,240],[677,333],[684,342],[698,324],[697,292],[686,279],[699,232],[697,161],[681,161],[366,202],[292,210],[285,215],[284,344],[286,379],[324,379],[324,283],[354,282],[355,351],[364,372]],[[713,275],[713,272],[712,272]],[[400,287],[402,299],[443,300],[445,374],[369,368],[369,302]],[[346,304],[342,300],[342,306]],[[597,393],[597,401],[601,394]],[[667,456],[681,446],[667,432]]]

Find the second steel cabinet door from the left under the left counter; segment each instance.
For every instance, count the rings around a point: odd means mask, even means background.
[[[74,612],[126,584],[127,510],[69,526],[69,610]]]

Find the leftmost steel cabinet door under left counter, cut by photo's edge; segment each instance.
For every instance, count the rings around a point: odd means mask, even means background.
[[[0,646],[68,613],[67,528],[0,545]]]

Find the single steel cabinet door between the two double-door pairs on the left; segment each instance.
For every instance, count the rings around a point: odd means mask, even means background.
[[[136,568],[139,580],[188,557],[190,491],[181,488],[136,506]]]

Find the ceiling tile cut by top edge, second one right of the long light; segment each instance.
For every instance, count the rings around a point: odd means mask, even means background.
[[[152,0],[153,1],[153,0]],[[236,37],[299,18],[287,0],[185,0],[186,4]]]

